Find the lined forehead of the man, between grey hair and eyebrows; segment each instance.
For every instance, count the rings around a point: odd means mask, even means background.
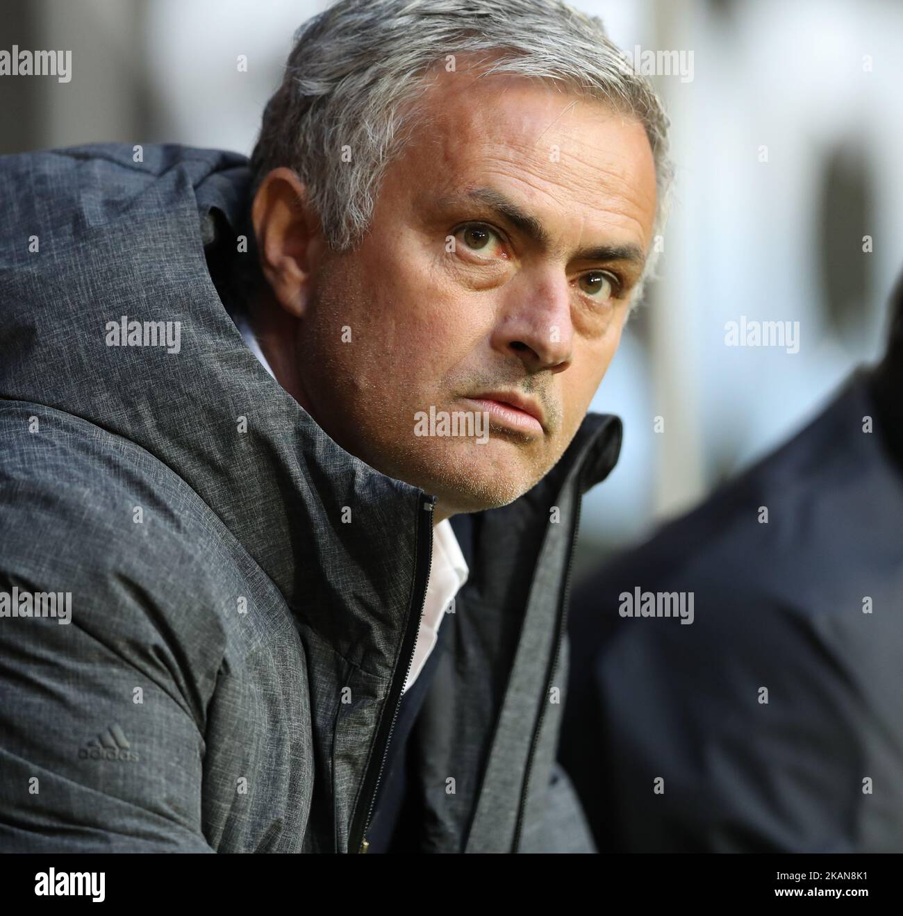
[[[635,117],[547,82],[466,71],[442,72],[420,104],[405,154],[412,195],[490,185],[553,233],[566,223],[647,247],[655,162]]]

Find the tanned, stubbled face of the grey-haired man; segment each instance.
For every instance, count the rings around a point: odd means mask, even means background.
[[[513,501],[570,444],[642,273],[656,180],[643,126],[602,104],[463,72],[426,100],[363,244],[311,278],[297,359],[332,439],[447,518]],[[499,409],[509,393],[539,418]],[[430,408],[488,410],[488,442],[418,435]]]

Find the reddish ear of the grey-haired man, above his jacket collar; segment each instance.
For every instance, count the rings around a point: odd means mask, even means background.
[[[251,207],[260,267],[279,305],[300,318],[307,308],[310,278],[323,248],[320,220],[307,188],[291,169],[273,169]]]

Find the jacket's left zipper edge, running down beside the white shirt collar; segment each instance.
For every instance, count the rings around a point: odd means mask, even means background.
[[[389,703],[394,703],[394,711],[392,713],[392,719],[388,722],[388,727],[386,728],[386,720],[384,719],[382,725],[380,726],[380,734],[376,739],[376,747],[379,747],[379,743],[384,741],[383,752],[379,760],[379,769],[374,772],[373,764],[371,763],[370,768],[364,774],[364,787],[361,790],[361,798],[369,798],[369,802],[366,805],[366,815],[364,817],[364,824],[360,826],[358,830],[357,827],[360,822],[360,814],[355,813],[354,823],[352,825],[351,831],[351,842],[349,843],[349,849],[354,849],[355,841],[358,835],[360,835],[360,843],[357,844],[357,851],[359,853],[365,853],[370,843],[366,838],[367,829],[370,826],[370,819],[373,817],[373,809],[376,802],[376,795],[379,789],[379,782],[383,778],[383,769],[386,767],[386,758],[388,757],[389,751],[389,742],[392,740],[392,732],[395,730],[395,722],[398,717],[398,709],[401,707],[401,689],[404,687],[405,682],[408,680],[408,674],[411,670],[411,665],[414,663],[414,649],[417,648],[417,634],[420,626],[420,618],[423,616],[423,607],[427,602],[427,586],[430,583],[430,572],[432,571],[432,537],[433,537],[433,509],[436,507],[436,497],[435,496],[420,496],[419,502],[419,514],[417,522],[417,559],[414,563],[414,588],[411,592],[410,605],[408,606],[408,620],[405,624],[405,635],[402,638],[402,652],[407,650],[408,652],[408,666],[405,669],[405,676],[400,682],[397,679],[392,682],[389,687]],[[429,518],[426,518],[429,516]],[[426,565],[424,566],[423,557],[424,555],[427,558]],[[419,599],[419,600],[418,600]],[[414,607],[419,607],[418,616],[414,616],[413,611]],[[371,783],[373,785],[371,786]],[[358,811],[364,811],[363,808],[358,808]]]

